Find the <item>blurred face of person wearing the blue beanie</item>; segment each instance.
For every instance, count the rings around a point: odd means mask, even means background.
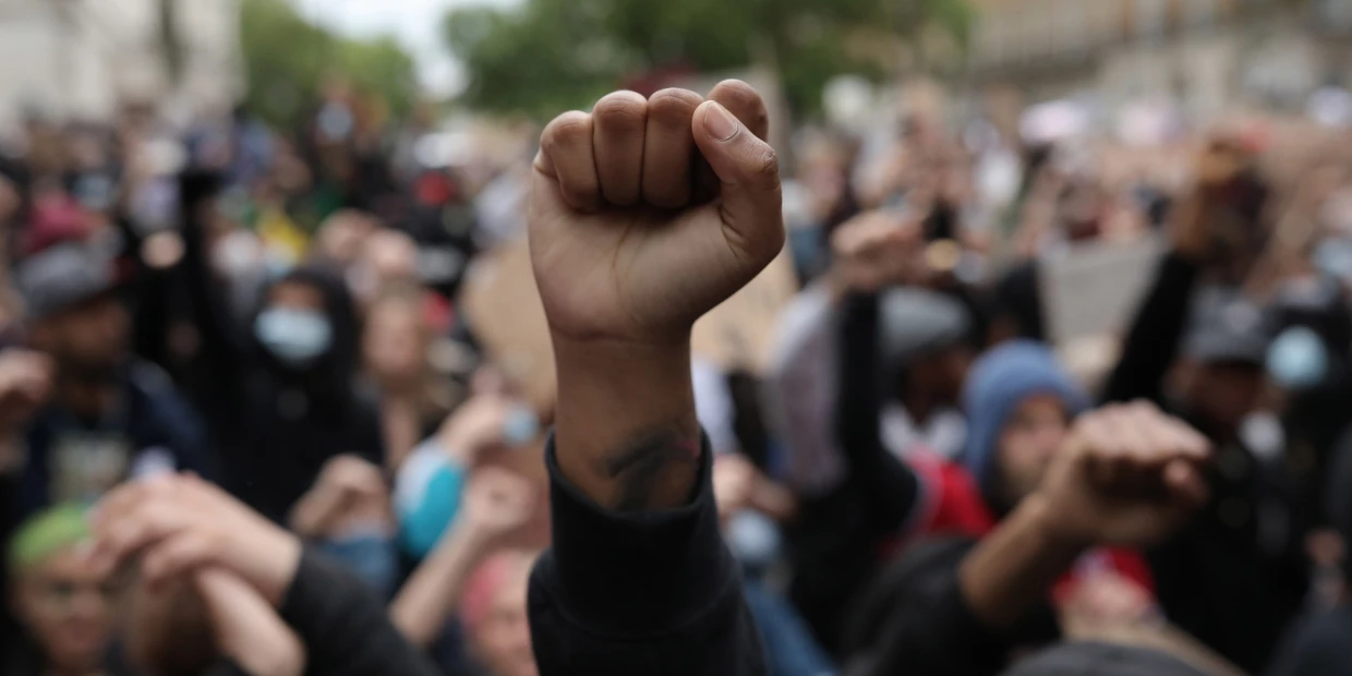
[[[1018,504],[1042,483],[1067,429],[1065,404],[1053,395],[1030,396],[1009,415],[996,449],[1007,506]]]

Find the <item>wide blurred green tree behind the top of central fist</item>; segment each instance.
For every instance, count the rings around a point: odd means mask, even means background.
[[[758,64],[779,70],[795,110],[813,112],[833,76],[933,68],[921,35],[961,46],[971,19],[965,0],[526,0],[456,9],[445,37],[469,74],[466,103],[484,110],[545,115],[585,105],[626,74]]]

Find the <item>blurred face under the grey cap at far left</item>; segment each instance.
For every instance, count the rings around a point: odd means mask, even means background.
[[[127,310],[105,295],[39,322],[34,341],[57,360],[64,375],[107,380],[127,357],[130,331]]]

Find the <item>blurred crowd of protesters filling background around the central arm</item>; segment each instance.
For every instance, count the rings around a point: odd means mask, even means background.
[[[291,130],[128,108],[3,149],[0,672],[404,673],[397,642],[537,673],[553,407],[461,301],[525,237],[535,149],[431,161],[434,131],[334,85]],[[1310,134],[795,131],[796,293],[764,368],[694,373],[772,675],[995,675],[1071,639],[1352,673],[1352,135]],[[1067,364],[1051,261],[1146,245],[1111,347]],[[1021,576],[1011,515],[1076,418],[1132,402],[1209,439],[1202,507]],[[991,611],[973,575],[1023,594]]]

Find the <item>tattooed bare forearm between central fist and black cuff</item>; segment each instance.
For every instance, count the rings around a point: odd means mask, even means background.
[[[690,341],[580,343],[554,337],[556,448],[564,476],[618,511],[685,504],[699,469]]]

